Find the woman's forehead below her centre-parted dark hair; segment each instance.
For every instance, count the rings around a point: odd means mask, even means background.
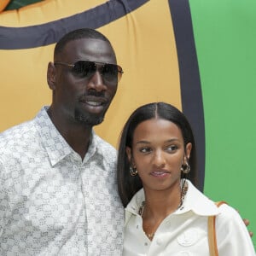
[[[149,119],[143,121],[134,131],[133,141],[145,140],[148,142],[160,142],[173,138],[183,141],[179,127],[166,119]]]

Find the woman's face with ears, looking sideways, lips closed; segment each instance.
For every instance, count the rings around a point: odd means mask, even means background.
[[[144,189],[165,190],[179,186],[181,166],[187,162],[191,147],[188,143],[184,148],[177,125],[166,119],[149,119],[137,125],[132,150],[126,148],[126,152]]]

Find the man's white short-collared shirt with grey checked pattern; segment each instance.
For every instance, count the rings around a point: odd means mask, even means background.
[[[115,149],[93,132],[81,160],[47,108],[0,134],[0,255],[121,255]]]

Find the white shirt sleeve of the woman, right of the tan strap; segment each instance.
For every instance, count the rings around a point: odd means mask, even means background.
[[[253,241],[241,216],[232,207],[219,207],[216,218],[216,239],[219,256],[254,256]]]

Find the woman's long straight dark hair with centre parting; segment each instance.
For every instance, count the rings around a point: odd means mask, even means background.
[[[186,174],[186,178],[198,187],[195,138],[188,119],[171,104],[166,102],[149,103],[137,108],[131,113],[119,137],[117,179],[119,196],[124,207],[131,201],[132,196],[135,195],[139,189],[143,188],[141,178],[138,175],[135,177],[131,177],[130,175],[131,165],[126,154],[126,147],[131,148],[134,131],[137,125],[148,119],[166,119],[171,121],[177,125],[182,132],[184,148],[187,143],[192,143],[192,150],[188,160],[191,171]],[[184,177],[183,175],[184,174],[182,174],[182,177]]]

